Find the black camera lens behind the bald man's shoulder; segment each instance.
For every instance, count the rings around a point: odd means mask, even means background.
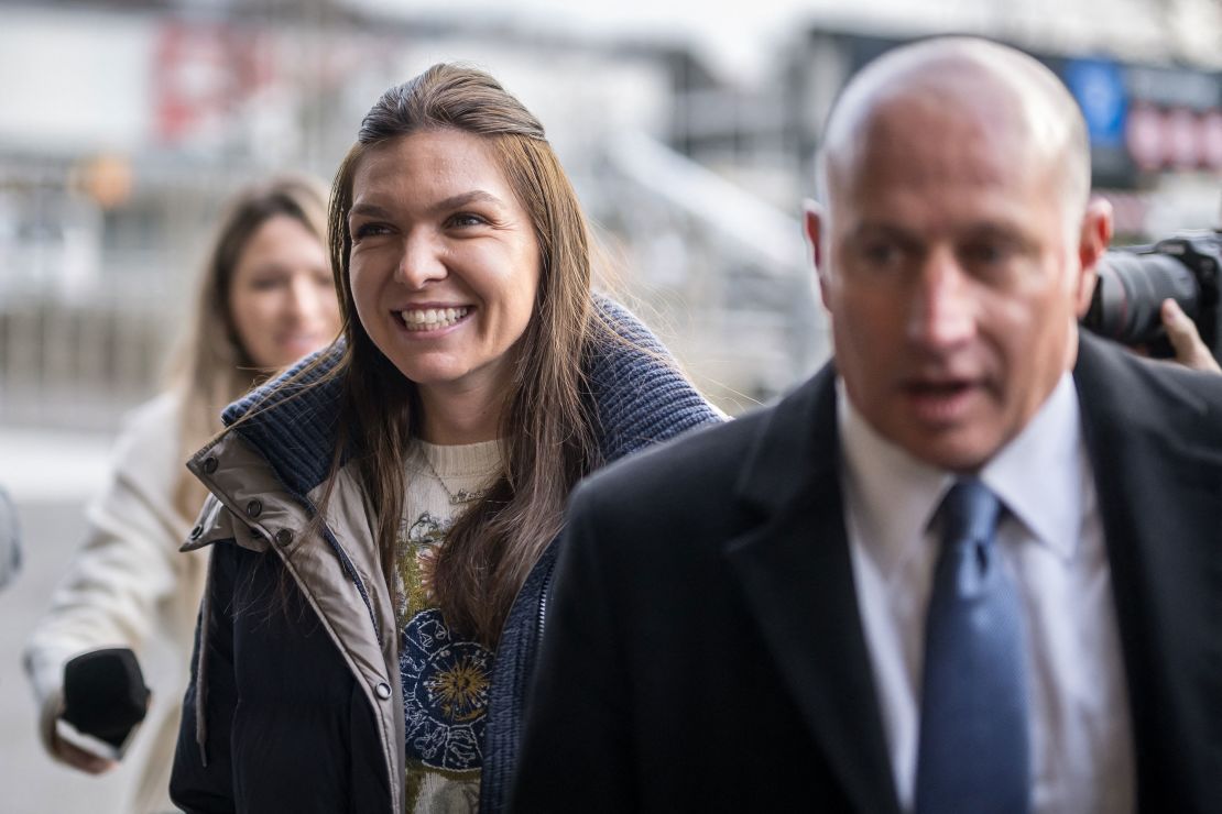
[[[1083,325],[1127,345],[1149,345],[1163,336],[1162,301],[1176,300],[1195,320],[1200,293],[1191,271],[1174,258],[1108,251]]]

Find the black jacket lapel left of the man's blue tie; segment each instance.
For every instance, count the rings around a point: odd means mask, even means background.
[[[833,382],[829,365],[765,416],[736,487],[755,522],[726,553],[854,808],[898,812],[853,587]]]

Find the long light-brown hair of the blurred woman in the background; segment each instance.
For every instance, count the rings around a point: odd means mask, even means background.
[[[220,432],[225,405],[275,371],[255,365],[242,345],[230,311],[230,288],[251,238],[276,216],[298,221],[326,239],[326,193],[306,176],[277,176],[237,192],[221,216],[202,273],[191,322],[172,356],[169,386],[182,393],[178,437],[186,460]],[[175,484],[174,506],[193,520],[208,491],[186,469]]]

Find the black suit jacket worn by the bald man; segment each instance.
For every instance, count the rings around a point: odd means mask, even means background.
[[[517,810],[898,810],[833,377],[578,489]],[[1222,810],[1222,377],[1084,336],[1074,381],[1139,805]]]

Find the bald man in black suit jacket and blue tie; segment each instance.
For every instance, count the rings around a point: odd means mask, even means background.
[[[1072,98],[927,40],[818,166],[835,359],[578,489],[517,810],[1220,810],[1222,377],[1079,334]]]

